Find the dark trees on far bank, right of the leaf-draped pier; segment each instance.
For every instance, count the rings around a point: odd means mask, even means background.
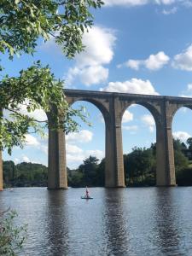
[[[187,145],[173,140],[177,185],[192,185],[192,138]],[[90,156],[77,170],[68,172],[68,183],[72,187],[103,186],[104,166],[94,156]],[[150,148],[133,148],[124,154],[125,184],[127,186],[154,186],[156,170],[156,144]]]

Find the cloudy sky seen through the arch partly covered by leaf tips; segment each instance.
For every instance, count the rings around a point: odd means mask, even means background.
[[[79,153],[73,154],[73,150],[70,149],[71,141],[67,140],[67,166],[69,168],[70,166],[75,166],[74,168],[78,167],[83,163],[83,160],[90,155],[95,156],[100,160],[105,157],[105,120],[101,110],[96,107],[96,104],[93,104],[90,101],[88,102],[78,99],[71,104],[71,107],[74,109],[79,108],[79,106],[87,109],[87,113],[89,113],[87,121],[89,121],[91,125],[88,126],[86,123],[84,124],[84,122],[78,118],[77,121],[80,125],[79,132],[77,133],[77,139],[73,141],[72,144],[77,148],[81,148],[81,152],[79,151]],[[81,132],[88,136],[84,137],[84,141],[81,139],[79,140]],[[70,134],[67,135],[67,137],[68,136],[70,137]],[[86,138],[88,138],[87,141]]]

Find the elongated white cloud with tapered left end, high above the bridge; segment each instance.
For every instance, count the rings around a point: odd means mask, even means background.
[[[129,60],[123,64],[119,64],[118,67],[130,67],[135,70],[139,70],[140,67],[146,67],[149,70],[159,70],[165,66],[170,60],[169,56],[163,51],[158,52],[156,55],[149,55],[146,60]]]

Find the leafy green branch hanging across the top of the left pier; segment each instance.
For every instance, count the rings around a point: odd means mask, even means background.
[[[28,113],[44,109],[49,121],[22,113],[23,108]],[[18,78],[3,78],[0,82],[0,109],[5,111],[5,114],[0,113],[0,148],[8,148],[9,154],[14,146],[22,148],[28,132],[43,135],[48,125],[51,129],[75,131],[78,123],[73,120],[74,115],[85,121],[85,115],[80,110],[68,106],[63,94],[63,81],[55,79],[49,67],[42,67],[39,61],[21,70]],[[59,115],[63,118],[60,119]]]

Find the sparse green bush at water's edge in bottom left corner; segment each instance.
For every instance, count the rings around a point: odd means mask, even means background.
[[[26,225],[17,227],[16,212],[0,213],[0,255],[15,256],[26,241]]]

